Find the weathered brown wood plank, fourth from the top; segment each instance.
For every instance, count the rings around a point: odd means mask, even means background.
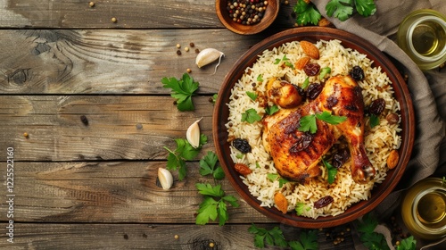
[[[202,177],[198,162],[186,162],[186,179],[169,190],[157,186],[158,168],[166,162],[14,162],[13,207],[16,222],[194,223],[202,202],[195,183]],[[227,179],[217,181],[240,201],[228,206],[230,223],[268,222],[241,200]],[[160,185],[160,184],[158,184]],[[6,187],[2,193],[6,192]],[[2,207],[7,207],[2,200]],[[0,221],[7,221],[0,213]],[[218,221],[217,221],[218,223]]]

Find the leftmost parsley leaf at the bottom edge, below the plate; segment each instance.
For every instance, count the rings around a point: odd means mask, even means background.
[[[248,232],[254,235],[254,246],[259,248],[265,247],[265,242],[269,246],[288,246],[284,234],[281,229],[274,227],[273,229],[257,228],[253,223]]]

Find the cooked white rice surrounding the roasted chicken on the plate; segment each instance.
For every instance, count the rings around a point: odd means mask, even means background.
[[[301,86],[307,75],[304,71],[293,70],[290,67],[282,67],[282,63],[274,64],[276,59],[282,59],[286,54],[288,62],[295,63],[299,58],[305,56],[299,42],[294,41],[282,46],[266,50],[260,54],[256,63],[252,67],[245,69],[244,75],[232,89],[230,98],[229,117],[227,121],[227,131],[229,138],[247,139],[252,146],[252,152],[241,154],[231,146],[231,157],[234,162],[248,165],[252,170],[244,179],[244,184],[249,187],[252,196],[257,197],[262,206],[274,206],[274,194],[282,192],[288,200],[288,211],[293,212],[296,204],[305,204],[302,216],[318,218],[318,216],[337,215],[343,213],[351,204],[360,200],[367,200],[371,195],[370,191],[376,183],[381,183],[386,176],[386,159],[393,149],[399,148],[401,144],[400,125],[390,125],[385,116],[390,113],[400,114],[400,104],[392,96],[392,83],[387,75],[379,68],[372,68],[366,54],[360,54],[356,50],[345,48],[339,40],[324,41],[316,43],[319,49],[320,58],[311,60],[310,63],[318,63],[321,69],[331,68],[331,76],[347,75],[353,66],[359,65],[365,73],[365,79],[359,81],[362,87],[362,95],[366,106],[376,98],[384,98],[385,110],[380,115],[380,124],[370,129],[368,116],[365,118],[365,144],[370,162],[376,168],[376,177],[366,185],[360,185],[351,178],[351,163],[346,162],[338,170],[335,182],[329,185],[326,181],[326,169],[319,164],[322,171],[321,176],[310,179],[307,184],[288,182],[283,187],[279,187],[278,180],[271,181],[268,174],[277,173],[271,156],[265,151],[261,142],[261,121],[252,124],[241,121],[242,113],[248,109],[255,109],[260,115],[265,114],[265,109],[258,102],[246,95],[246,91],[256,93],[266,93],[266,83],[268,79],[285,79],[295,85]],[[261,75],[263,81],[258,81]],[[320,82],[318,76],[310,77],[310,83]],[[253,83],[255,88],[253,87]],[[236,97],[235,97],[236,96]],[[266,94],[265,94],[266,96]],[[269,105],[272,105],[270,103]],[[313,204],[324,196],[332,196],[334,203],[326,207],[316,209]]]

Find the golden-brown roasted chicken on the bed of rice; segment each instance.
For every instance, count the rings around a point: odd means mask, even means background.
[[[317,112],[347,117],[338,125],[317,120],[315,134],[301,132],[301,117]],[[346,138],[351,151],[351,175],[357,183],[368,183],[375,169],[364,146],[364,102],[358,84],[349,76],[326,81],[319,96],[294,109],[282,109],[263,120],[263,144],[277,172],[285,179],[305,182],[320,174],[318,162],[336,140]]]

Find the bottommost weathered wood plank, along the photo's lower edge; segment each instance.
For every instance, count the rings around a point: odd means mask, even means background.
[[[278,224],[257,225],[272,229],[279,227],[287,240],[299,240],[301,229]],[[160,225],[160,224],[51,224],[20,223],[14,230],[14,243],[0,237],[0,247],[7,249],[255,249],[253,235],[244,225]],[[319,249],[354,249],[351,233],[334,245],[318,232]],[[175,236],[178,235],[178,238]],[[213,246],[210,246],[210,244]],[[265,249],[277,249],[267,246]]]

